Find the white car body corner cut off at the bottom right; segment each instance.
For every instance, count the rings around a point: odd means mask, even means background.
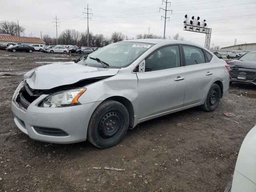
[[[244,138],[240,148],[233,181],[224,192],[256,191],[256,126]]]

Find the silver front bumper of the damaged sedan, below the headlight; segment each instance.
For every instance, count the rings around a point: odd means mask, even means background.
[[[87,127],[92,113],[100,102],[78,106],[48,108],[38,104],[48,95],[41,95],[28,108],[24,108],[17,97],[22,82],[12,99],[12,114],[17,127],[34,140],[68,144],[86,140]]]

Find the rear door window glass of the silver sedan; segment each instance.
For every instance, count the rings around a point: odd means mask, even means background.
[[[200,48],[183,46],[186,66],[205,63],[204,52]]]

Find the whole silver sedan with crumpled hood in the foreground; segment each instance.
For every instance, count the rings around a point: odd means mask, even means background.
[[[140,122],[195,106],[215,110],[228,87],[229,66],[197,44],[126,40],[27,72],[12,112],[32,139],[109,148]]]

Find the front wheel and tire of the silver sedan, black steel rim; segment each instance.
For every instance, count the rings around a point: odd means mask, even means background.
[[[128,129],[129,114],[126,107],[114,100],[102,102],[91,116],[87,138],[98,148],[118,144]]]

